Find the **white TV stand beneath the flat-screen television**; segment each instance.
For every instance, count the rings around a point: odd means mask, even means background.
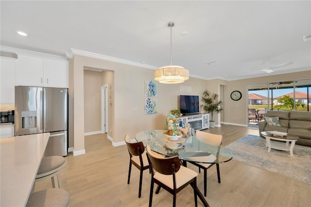
[[[196,130],[209,128],[209,114],[192,114],[178,117],[183,123],[189,123]]]

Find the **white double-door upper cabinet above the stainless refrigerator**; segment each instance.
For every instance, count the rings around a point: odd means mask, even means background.
[[[18,55],[18,86],[68,87],[68,61]]]

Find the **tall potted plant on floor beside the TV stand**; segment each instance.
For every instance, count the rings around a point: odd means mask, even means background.
[[[218,94],[210,93],[208,90],[205,90],[202,95],[201,101],[203,102],[203,108],[207,113],[211,115],[211,121],[209,121],[209,127],[214,128],[215,122],[213,120],[214,113],[220,113],[223,111],[223,101],[219,99]]]

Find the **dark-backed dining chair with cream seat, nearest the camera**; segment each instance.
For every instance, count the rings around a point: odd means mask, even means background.
[[[173,157],[161,157],[157,153],[151,151],[149,145],[146,145],[147,158],[151,170],[151,185],[150,185],[150,197],[149,207],[152,206],[152,197],[154,184],[158,187],[155,190],[155,194],[159,193],[163,188],[173,194],[173,207],[176,206],[176,194],[192,184],[194,193],[194,203],[197,207],[197,186],[196,177],[198,173],[186,168],[180,164],[178,156]]]

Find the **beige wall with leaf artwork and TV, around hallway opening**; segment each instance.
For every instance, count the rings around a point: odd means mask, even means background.
[[[158,113],[155,115],[144,114],[144,82],[153,80],[154,70],[136,66],[105,61],[74,55],[69,64],[73,67],[74,83],[69,85],[73,88],[74,100],[74,151],[84,150],[84,67],[105,69],[113,71],[110,78],[102,79],[102,84],[111,84],[111,115],[108,119],[108,136],[114,143],[124,141],[124,136],[129,134],[134,138],[135,134],[144,129],[163,129],[164,120],[171,109],[179,108],[178,95],[200,95],[207,87],[207,81],[190,78],[182,84],[165,85],[158,83]],[[111,81],[113,77],[113,81]],[[190,92],[180,92],[180,86],[190,87]],[[69,88],[70,89],[70,88]],[[109,100],[109,97],[108,97]],[[110,101],[110,100],[109,100]],[[108,113],[109,115],[109,113]],[[111,117],[111,118],[110,118]],[[81,130],[82,129],[82,130]],[[100,129],[94,129],[99,131]],[[71,142],[70,142],[71,143]]]

